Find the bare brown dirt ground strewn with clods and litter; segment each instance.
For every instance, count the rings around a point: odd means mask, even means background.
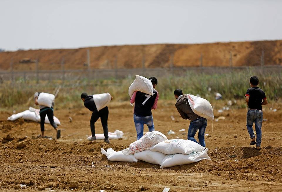
[[[187,138],[189,120],[183,120],[173,105],[161,102],[153,112],[155,130],[169,139]],[[136,139],[132,108],[129,103],[111,103],[109,131],[124,132],[122,140],[87,141],[90,135],[90,111],[85,108],[56,110],[61,120],[59,140],[36,139],[40,125],[23,119],[7,121],[10,112],[0,112],[0,191],[18,191],[18,184],[26,184],[19,191],[281,191],[282,148],[281,115],[264,108],[262,150],[249,146],[246,130],[246,109],[231,107],[219,113],[218,121],[208,121],[206,144],[211,161],[160,169],[139,161],[137,163],[110,162],[102,158],[100,148],[121,150]],[[73,120],[70,122],[69,117]],[[173,120],[174,118],[174,120]],[[184,132],[179,132],[180,129]],[[55,131],[46,125],[46,135]],[[212,131],[213,129],[213,131]],[[167,135],[169,130],[174,135]],[[147,131],[147,127],[144,133]],[[103,133],[100,120],[96,133]],[[27,136],[27,137],[25,137]],[[14,139],[13,139],[14,138]]]

